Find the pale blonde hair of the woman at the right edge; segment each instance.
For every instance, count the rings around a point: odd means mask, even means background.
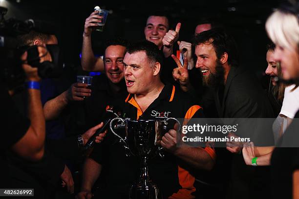
[[[299,23],[296,15],[276,10],[266,21],[266,31],[275,44],[290,50],[298,49]]]

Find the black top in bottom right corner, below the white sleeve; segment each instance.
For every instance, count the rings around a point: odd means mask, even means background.
[[[299,111],[271,157],[272,198],[292,199],[293,172],[299,169]]]

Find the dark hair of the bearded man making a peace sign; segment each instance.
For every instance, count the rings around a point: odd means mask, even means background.
[[[212,44],[218,59],[223,53],[228,54],[228,63],[231,66],[238,66],[238,50],[234,38],[227,34],[222,28],[213,28],[196,34],[193,39],[193,46],[199,44]]]

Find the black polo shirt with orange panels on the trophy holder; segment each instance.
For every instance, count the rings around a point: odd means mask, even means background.
[[[120,102],[121,103],[121,102]],[[134,96],[129,94],[125,100],[123,115],[131,120],[135,119],[167,119],[167,118],[202,118],[200,106],[191,102],[190,98],[171,84],[166,84],[160,95],[145,112],[142,112]],[[169,122],[170,124],[171,122]],[[169,129],[173,128],[168,127]],[[214,156],[214,150],[206,150]],[[164,198],[194,198],[193,186],[195,178],[189,173],[191,168],[181,164],[180,160],[164,151],[165,157],[155,157],[149,160],[149,176],[158,185]],[[128,198],[129,184],[138,179],[139,159],[126,157],[125,150],[119,139],[112,133],[107,135],[102,144],[96,145],[91,153],[91,159],[108,167],[107,188],[117,197]],[[214,158],[214,157],[213,157]],[[109,191],[112,193],[112,191]],[[127,195],[127,196],[126,196]]]

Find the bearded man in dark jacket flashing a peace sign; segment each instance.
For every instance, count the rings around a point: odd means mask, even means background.
[[[273,117],[266,93],[258,84],[256,77],[245,68],[238,67],[237,48],[232,36],[226,34],[222,29],[211,29],[197,34],[193,45],[197,58],[195,67],[201,71],[203,83],[214,91],[219,118]],[[178,68],[173,72],[173,77],[180,80],[181,87],[189,92],[192,90],[192,86],[189,83],[188,73],[179,62],[177,64]],[[205,107],[204,100],[202,103]],[[269,142],[263,143],[263,146],[273,145],[272,132],[259,133],[269,133]],[[240,155],[242,145],[230,143],[226,148],[233,153],[230,168],[226,170],[226,172],[231,170],[228,198],[250,198],[252,195],[267,196],[270,193],[270,182],[267,181],[270,179],[268,177],[269,168],[255,167],[249,170]],[[269,153],[267,147],[256,148],[261,154]],[[225,158],[223,163],[229,165],[228,161],[229,158]],[[238,189],[233,190],[233,187],[238,187]]]

